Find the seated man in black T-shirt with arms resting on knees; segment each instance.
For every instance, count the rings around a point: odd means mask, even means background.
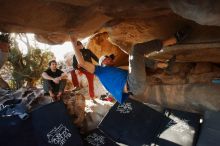
[[[49,61],[49,67],[42,73],[45,94],[50,95],[55,101],[60,100],[66,86],[66,74],[57,68],[56,60]]]

